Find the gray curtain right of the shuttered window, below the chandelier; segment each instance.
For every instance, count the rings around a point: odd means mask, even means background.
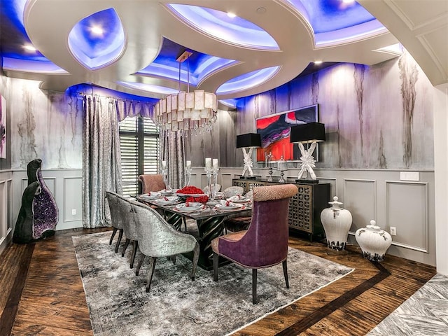
[[[167,161],[168,181],[171,188],[185,186],[185,141],[182,131],[162,131],[162,160]]]

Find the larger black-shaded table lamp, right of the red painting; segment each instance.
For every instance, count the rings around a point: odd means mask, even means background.
[[[300,153],[300,172],[296,182],[318,183],[313,168],[316,168],[313,152],[318,142],[325,141],[325,125],[321,123],[307,123],[291,127],[290,142],[299,144]],[[305,150],[303,144],[311,144]],[[303,174],[309,173],[310,179],[302,179]]]

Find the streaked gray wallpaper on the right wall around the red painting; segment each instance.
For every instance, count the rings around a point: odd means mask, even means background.
[[[432,90],[407,52],[374,66],[338,64],[239,99],[237,111],[220,111],[207,146],[192,138],[186,158],[195,165],[219,155],[225,167],[242,167],[235,139],[255,132],[255,118],[318,103],[327,141],[316,167],[433,169]]]

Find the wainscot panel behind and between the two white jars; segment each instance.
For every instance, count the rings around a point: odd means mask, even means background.
[[[344,179],[344,208],[353,217],[350,231],[365,228],[372,219],[377,220],[377,186],[374,180]]]

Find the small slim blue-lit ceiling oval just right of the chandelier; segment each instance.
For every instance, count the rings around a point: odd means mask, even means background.
[[[244,73],[244,75],[237,76],[223,83],[218,87],[218,90],[216,90],[216,94],[230,94],[251,89],[252,87],[265,83],[269,78],[272,78],[279,69],[280,66],[271,66],[269,68]]]

